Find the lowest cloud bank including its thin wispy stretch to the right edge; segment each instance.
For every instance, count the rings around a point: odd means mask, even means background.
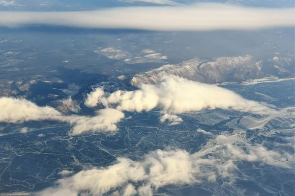
[[[152,196],[158,188],[167,185],[179,187],[214,182],[217,178],[223,178],[224,182],[233,177],[238,178],[242,171],[237,164],[240,165],[241,160],[292,169],[289,164],[294,162],[294,157],[286,152],[251,145],[236,135],[220,135],[208,140],[195,154],[182,149],[158,149],[150,151],[138,161],[118,157],[108,167],[83,170],[70,177],[63,177],[55,187],[47,188],[37,195],[77,196],[85,191],[89,196]],[[262,167],[259,165],[257,167]],[[246,180],[247,174],[242,175],[242,178]]]

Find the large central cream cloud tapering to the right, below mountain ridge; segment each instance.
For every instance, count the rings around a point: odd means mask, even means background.
[[[261,115],[278,113],[264,103],[247,100],[230,90],[173,75],[163,76],[155,85],[143,84],[139,90],[116,91],[99,101],[106,106],[117,105],[118,110],[137,112],[160,107],[163,113],[170,114],[216,108]]]

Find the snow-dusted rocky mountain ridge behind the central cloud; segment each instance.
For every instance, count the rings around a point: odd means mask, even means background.
[[[241,82],[266,76],[286,77],[294,74],[294,59],[275,56],[263,61],[250,55],[220,57],[211,61],[191,59],[181,64],[164,65],[145,73],[138,73],[134,75],[130,83],[137,87],[141,83],[154,84],[165,74],[211,84]]]

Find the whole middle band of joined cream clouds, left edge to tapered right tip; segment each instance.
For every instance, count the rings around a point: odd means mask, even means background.
[[[28,121],[59,121],[73,124],[71,134],[84,132],[116,131],[116,123],[124,118],[122,111],[149,111],[162,108],[160,122],[168,121],[170,125],[182,123],[175,114],[197,112],[201,110],[236,110],[260,115],[280,115],[264,103],[247,100],[234,92],[209,84],[190,81],[178,76],[164,76],[155,85],[143,84],[135,91],[116,91],[105,93],[96,88],[89,93],[85,105],[95,107],[98,103],[105,109],[98,110],[95,116],[64,115],[55,108],[40,107],[26,100],[17,98],[0,98],[0,122],[23,123]],[[116,109],[113,109],[116,108]]]

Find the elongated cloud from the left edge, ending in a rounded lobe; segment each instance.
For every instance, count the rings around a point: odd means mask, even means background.
[[[23,123],[28,121],[59,121],[74,124],[71,133],[78,135],[83,132],[116,131],[118,123],[124,114],[112,108],[98,110],[96,116],[65,116],[56,109],[45,106],[40,107],[26,100],[17,98],[0,98],[0,122]]]

